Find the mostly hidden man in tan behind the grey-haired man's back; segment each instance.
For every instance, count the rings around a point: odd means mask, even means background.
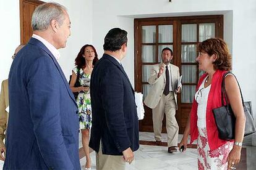
[[[14,59],[15,55],[24,47],[24,44],[20,44],[12,55],[12,59]],[[6,158],[4,155],[6,154],[6,147],[4,145],[4,138],[6,135],[4,132],[7,128],[7,120],[9,117],[9,113],[6,111],[6,108],[9,107],[9,92],[8,92],[8,79],[2,81],[1,86],[1,94],[0,94],[0,160],[4,161]],[[4,153],[4,154],[3,154]]]

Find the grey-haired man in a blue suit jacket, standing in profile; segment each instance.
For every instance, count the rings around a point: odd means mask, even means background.
[[[56,60],[70,36],[69,15],[64,6],[42,4],[32,27],[9,74],[4,169],[80,169],[77,105]]]

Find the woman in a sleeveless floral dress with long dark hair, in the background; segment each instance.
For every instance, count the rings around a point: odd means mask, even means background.
[[[75,59],[76,67],[72,70],[72,77],[70,81],[70,89],[72,92],[79,92],[76,100],[79,108],[79,127],[82,132],[83,150],[86,156],[86,170],[91,169],[90,152],[88,146],[90,127],[92,127],[90,78],[93,65],[97,60],[98,55],[95,47],[88,44],[83,46]],[[79,87],[75,87],[77,76],[79,76]]]

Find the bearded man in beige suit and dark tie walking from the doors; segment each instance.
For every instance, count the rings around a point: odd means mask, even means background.
[[[175,113],[177,110],[177,93],[181,85],[176,87],[179,78],[179,67],[171,64],[173,51],[168,47],[162,51],[163,63],[153,65],[148,83],[151,89],[144,101],[153,110],[153,129],[156,144],[161,144],[161,130],[164,113],[166,115],[166,130],[168,134],[168,152],[176,152],[179,126]]]

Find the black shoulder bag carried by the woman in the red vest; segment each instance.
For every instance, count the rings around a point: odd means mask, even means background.
[[[221,105],[222,107],[219,108],[213,108],[213,115],[215,116],[215,122],[216,126],[218,128],[219,132],[219,138],[223,140],[232,140],[235,136],[235,126],[236,126],[236,117],[234,116],[233,110],[231,108],[231,105],[228,103],[227,96],[226,96],[226,89],[225,89],[225,82],[224,79],[226,75],[232,74],[231,72],[227,72],[223,75],[223,80],[221,83]],[[236,76],[234,76],[236,78]],[[236,79],[237,81],[237,79]],[[237,84],[239,86],[239,83],[237,81]],[[254,119],[252,118],[252,115],[250,115],[250,112],[247,110],[247,108],[244,105],[244,99],[242,97],[242,91],[240,89],[240,94],[242,98],[242,105],[244,107],[244,114],[246,118],[245,122],[245,131],[244,136],[248,136],[250,134],[253,134],[256,131]],[[226,105],[224,105],[223,101],[223,94],[224,98],[226,100]]]

